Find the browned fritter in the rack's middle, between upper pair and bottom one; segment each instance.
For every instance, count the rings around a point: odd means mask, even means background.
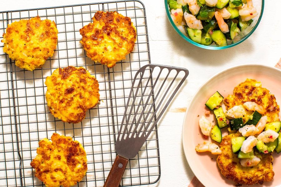
[[[83,67],[58,68],[45,84],[47,105],[63,122],[81,122],[86,111],[100,100],[98,81]]]

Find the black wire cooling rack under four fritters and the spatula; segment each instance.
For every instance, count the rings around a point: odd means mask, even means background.
[[[137,30],[133,52],[111,69],[86,57],[79,42],[79,29],[91,22],[98,10],[117,11],[131,17]],[[129,0],[0,12],[0,40],[7,24],[37,15],[55,21],[59,31],[55,54],[41,69],[18,68],[14,60],[3,53],[3,43],[0,43],[0,186],[44,185],[34,176],[30,162],[36,156],[38,141],[50,139],[53,132],[73,137],[86,150],[88,170],[76,186],[102,186],[116,157],[116,133],[132,78],[141,66],[150,64],[145,7],[138,0]],[[86,68],[96,76],[100,87],[100,104],[89,110],[86,118],[77,124],[54,118],[45,99],[46,77],[55,69],[69,65]],[[145,79],[151,79],[152,85],[151,77]],[[155,127],[138,155],[129,161],[121,185],[152,184],[159,178]]]

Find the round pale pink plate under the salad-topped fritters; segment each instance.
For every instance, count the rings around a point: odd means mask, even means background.
[[[216,163],[216,155],[211,155],[210,152],[197,153],[195,151],[195,146],[198,145],[198,143],[211,141],[210,137],[206,140],[202,136],[198,125],[200,117],[205,115],[205,111],[208,110],[207,107],[205,107],[205,102],[216,91],[219,91],[224,97],[228,96],[228,94],[232,94],[234,87],[244,82],[247,78],[260,81],[262,87],[269,89],[269,91],[275,95],[277,103],[280,105],[281,71],[263,65],[241,65],[225,70],[203,84],[195,93],[195,96],[186,110],[182,129],[185,157],[195,176],[206,187],[235,186],[235,183],[221,175]],[[212,113],[207,118],[211,122],[213,120],[214,123],[216,122]],[[223,136],[228,134],[227,129],[223,129],[222,132]],[[273,170],[275,173],[273,180],[271,182],[264,182],[264,185],[252,185],[252,187],[276,187],[281,185],[281,178],[279,177],[281,174],[281,153],[277,154],[274,151],[273,157]]]

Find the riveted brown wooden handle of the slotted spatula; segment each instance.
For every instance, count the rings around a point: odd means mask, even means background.
[[[103,187],[118,187],[120,185],[128,161],[128,159],[122,156],[116,156]]]

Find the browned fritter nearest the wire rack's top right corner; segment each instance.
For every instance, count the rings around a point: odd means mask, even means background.
[[[112,68],[117,61],[126,59],[136,42],[136,28],[130,17],[118,12],[98,11],[89,23],[80,29],[87,56]]]

